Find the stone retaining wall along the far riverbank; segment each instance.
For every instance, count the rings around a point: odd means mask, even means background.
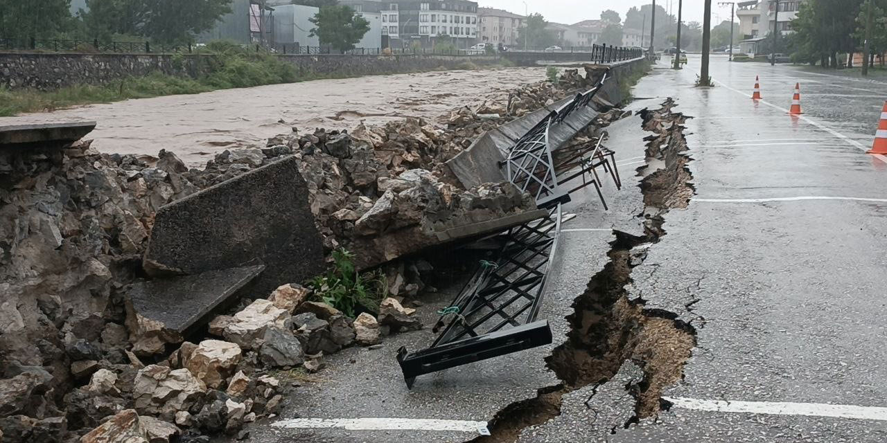
[[[0,86],[8,89],[58,89],[73,84],[107,84],[130,75],[154,71],[191,75],[196,56],[174,60],[170,54],[0,53]],[[496,57],[423,55],[280,55],[301,75],[402,74],[435,69],[459,69],[496,63]]]

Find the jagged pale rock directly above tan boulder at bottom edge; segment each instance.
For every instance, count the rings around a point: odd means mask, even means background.
[[[132,399],[140,412],[172,415],[191,408],[205,392],[207,386],[188,369],[149,365],[138,371]]]

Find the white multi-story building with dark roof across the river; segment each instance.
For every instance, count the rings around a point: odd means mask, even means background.
[[[477,40],[477,2],[383,1],[381,19],[382,35],[388,35],[390,45],[396,48],[413,43],[431,48],[445,37],[464,49]]]

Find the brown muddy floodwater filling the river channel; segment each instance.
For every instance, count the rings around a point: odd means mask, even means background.
[[[515,86],[544,80],[545,69],[375,75],[224,89],[195,95],[86,105],[52,113],[0,118],[0,126],[95,120],[88,138],[102,152],[157,155],[176,152],[199,166],[216,152],[263,144],[271,136],[314,128],[354,128],[404,117],[435,119],[486,97],[507,99]]]

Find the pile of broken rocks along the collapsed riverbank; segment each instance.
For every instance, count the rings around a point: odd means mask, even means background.
[[[285,285],[217,317],[205,339],[165,338],[156,353],[133,344],[162,328],[134,318],[126,300],[144,276],[161,206],[284,156],[301,159],[327,251],[347,248],[361,268],[418,251],[453,221],[533,210],[510,183],[461,189],[443,162],[483,131],[565,97],[577,82],[568,74],[520,89],[510,103],[455,110],[444,116],[445,130],[405,119],[350,133],[293,132],[262,148],[220,153],[203,169],[171,152],[107,155],[89,143],[0,151],[0,438],[127,435],[156,443],[237,435],[242,424],[278,411],[288,371],[317,370],[321,355],[420,328],[401,305],[431,290],[421,277],[427,263],[415,260],[383,268],[394,298],[381,303],[378,320],[348,318]]]

